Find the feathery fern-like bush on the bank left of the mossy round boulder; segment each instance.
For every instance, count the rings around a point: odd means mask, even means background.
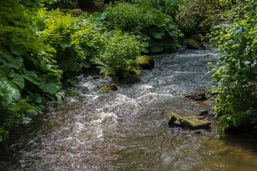
[[[104,42],[97,58],[93,59],[100,73],[117,81],[139,69],[136,57],[140,55],[140,42],[135,37],[115,31],[109,37],[106,36]]]

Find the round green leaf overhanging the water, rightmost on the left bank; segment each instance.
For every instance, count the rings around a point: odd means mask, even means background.
[[[41,88],[44,92],[54,94],[59,91],[62,87],[59,79],[54,76],[49,76],[47,79],[42,79],[39,83],[39,88]]]

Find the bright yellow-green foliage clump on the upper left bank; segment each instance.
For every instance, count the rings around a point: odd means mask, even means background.
[[[42,26],[41,36],[55,50],[54,60],[68,77],[89,68],[93,50],[98,49],[101,42],[102,27],[89,16],[73,18],[70,13],[60,10],[40,11]]]

